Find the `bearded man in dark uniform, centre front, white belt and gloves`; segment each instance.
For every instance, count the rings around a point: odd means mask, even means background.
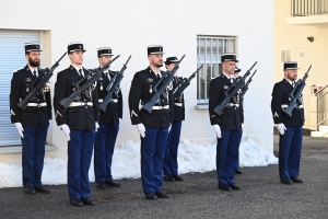
[[[142,187],[148,199],[168,198],[163,193],[163,160],[168,137],[168,127],[173,118],[172,92],[167,89],[168,100],[161,95],[161,102],[155,104],[152,113],[148,113],[142,105],[154,95],[153,88],[160,81],[163,66],[163,47],[149,46],[148,57],[150,66],[137,72],[129,92],[129,108],[132,125],[141,136],[141,177]],[[139,108],[141,103],[141,108]]]

